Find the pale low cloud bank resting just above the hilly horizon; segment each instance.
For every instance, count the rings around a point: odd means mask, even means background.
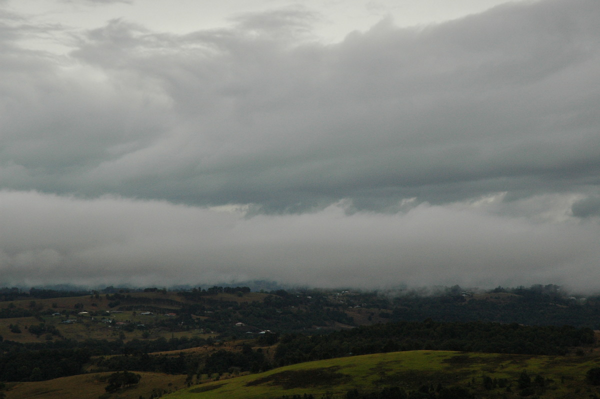
[[[575,200],[537,199],[544,212],[535,218],[519,215],[531,213],[532,200],[511,203],[501,194],[393,215],[349,214],[342,202],[309,214],[246,217],[233,208],[0,191],[0,271],[8,286],[268,279],[593,289],[600,226],[568,215]]]

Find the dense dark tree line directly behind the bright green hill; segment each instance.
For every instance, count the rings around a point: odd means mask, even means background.
[[[275,352],[277,365],[401,350],[565,355],[591,346],[594,332],[572,326],[523,326],[490,322],[395,322],[360,326],[311,337],[286,334]]]

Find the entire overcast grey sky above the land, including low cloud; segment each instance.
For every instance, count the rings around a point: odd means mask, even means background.
[[[600,292],[598,0],[0,0],[0,286]]]

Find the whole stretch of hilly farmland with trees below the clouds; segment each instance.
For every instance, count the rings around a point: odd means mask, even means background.
[[[225,392],[235,398],[233,392],[241,389],[254,397],[327,397],[329,392],[360,399],[383,389],[407,394],[420,389],[437,398],[446,392],[440,387],[490,398],[594,395],[585,376],[600,361],[587,325],[598,320],[583,316],[598,312],[600,301],[557,292],[532,287],[470,293],[453,287],[439,295],[393,297],[211,287],[61,296],[0,289],[5,299],[0,302],[0,395],[94,392],[94,398],[149,399]],[[545,323],[515,322],[540,309],[548,310]],[[446,313],[436,316],[440,310]],[[481,314],[495,319],[486,321]],[[582,322],[563,326],[561,321],[574,315]],[[139,383],[105,392],[107,379],[122,370],[139,374]],[[527,389],[518,388],[523,371],[530,380]],[[291,383],[302,380],[307,384]]]

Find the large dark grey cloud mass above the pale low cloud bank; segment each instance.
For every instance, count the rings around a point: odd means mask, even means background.
[[[597,185],[599,9],[576,3],[327,45],[298,36],[303,10],[189,35],[112,20],[80,38],[74,73],[40,59],[17,76],[2,182],[296,212]]]

